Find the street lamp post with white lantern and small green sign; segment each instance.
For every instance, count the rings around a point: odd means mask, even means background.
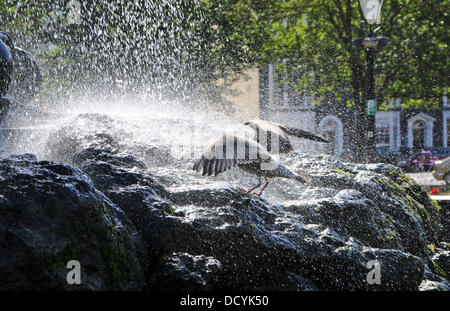
[[[383,0],[360,0],[361,9],[368,24],[381,23],[381,6]],[[365,105],[364,120],[358,120],[360,124],[365,125],[365,161],[371,162],[376,159],[376,124],[375,115],[377,112],[377,100],[375,96],[375,53],[377,49],[382,48],[389,42],[387,37],[375,37],[372,32],[366,38],[356,38],[353,44],[364,48],[366,52],[367,74],[366,74],[366,98],[363,101]]]

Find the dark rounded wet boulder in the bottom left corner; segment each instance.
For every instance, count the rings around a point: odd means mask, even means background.
[[[132,224],[81,171],[22,155],[1,160],[0,176],[0,288],[143,287]],[[66,282],[70,260],[80,285]]]

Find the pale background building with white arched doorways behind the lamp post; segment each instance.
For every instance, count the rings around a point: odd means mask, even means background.
[[[298,142],[306,151],[354,154],[356,111],[332,97],[313,105],[313,98],[300,98],[293,88],[277,83],[273,65],[259,70],[259,115],[261,118],[315,131],[327,136],[330,144]],[[439,99],[437,99],[439,100]],[[376,138],[379,154],[411,154],[422,149],[447,147],[450,143],[450,104],[447,96],[437,109],[404,109],[400,100],[392,101],[387,111],[376,114]]]

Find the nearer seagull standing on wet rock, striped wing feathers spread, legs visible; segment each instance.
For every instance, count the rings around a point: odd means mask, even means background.
[[[248,193],[261,186],[261,177],[265,178],[265,184],[258,195],[261,195],[269,184],[268,178],[282,177],[306,182],[305,177],[281,165],[264,146],[234,134],[225,134],[211,144],[202,153],[201,158],[195,161],[193,170],[202,171],[203,176],[217,176],[234,167],[258,176],[258,185],[248,190]]]

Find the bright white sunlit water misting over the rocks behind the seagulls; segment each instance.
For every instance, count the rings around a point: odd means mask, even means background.
[[[74,155],[90,145],[86,137],[110,135],[120,145],[121,154],[144,162],[148,171],[170,191],[209,188],[245,191],[258,184],[256,176],[238,168],[216,177],[203,177],[192,170],[195,159],[224,133],[249,138],[254,135],[238,115],[224,115],[213,109],[207,111],[150,98],[114,102],[84,100],[65,103],[50,115],[14,110],[5,126],[11,130],[2,132],[3,149],[72,165]],[[289,162],[293,170],[292,164],[312,161],[301,152],[283,155],[280,160]],[[333,192],[313,184],[273,178],[262,197],[273,203],[295,204],[330,196],[330,191]]]

